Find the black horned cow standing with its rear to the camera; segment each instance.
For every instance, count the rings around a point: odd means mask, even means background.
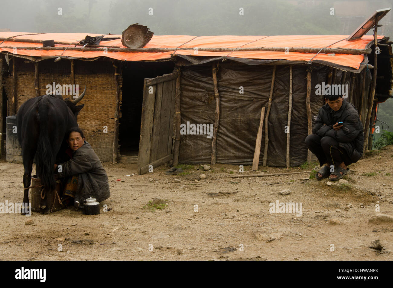
[[[44,95],[24,102],[17,113],[17,135],[23,157],[23,203],[29,203],[31,170],[35,156],[36,174],[44,186],[45,195],[55,189],[53,166],[61,148],[65,146],[66,131],[77,127],[77,115],[84,105],[76,105],[86,92],[75,100],[62,96]],[[29,207],[31,209],[31,207]],[[26,209],[25,209],[26,211]],[[40,213],[50,213],[46,196],[41,200]]]

